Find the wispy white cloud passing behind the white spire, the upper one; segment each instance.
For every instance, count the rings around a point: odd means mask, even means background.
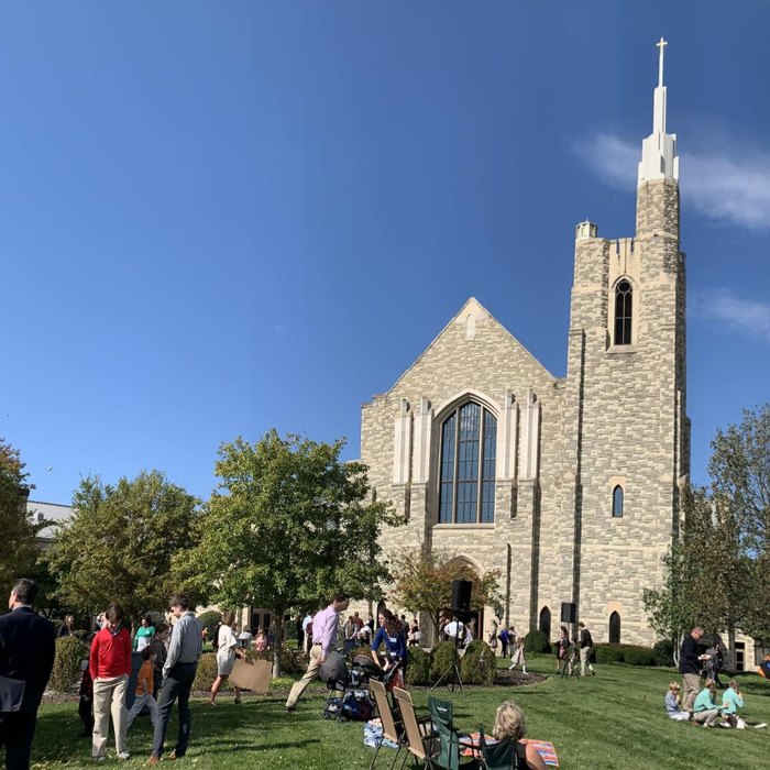
[[[641,142],[608,133],[573,143],[586,166],[612,187],[636,184]],[[685,200],[710,219],[749,230],[770,229],[770,153],[741,148],[740,160],[718,152],[682,154]]]

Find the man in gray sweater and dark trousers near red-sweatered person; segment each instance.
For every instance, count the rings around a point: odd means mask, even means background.
[[[152,755],[146,761],[150,767],[161,761],[168,719],[177,697],[179,698],[179,737],[168,758],[179,759],[187,751],[190,739],[190,690],[193,690],[198,659],[204,651],[204,629],[189,608],[187,596],[184,594],[174,596],[170,601],[170,609],[174,617],[178,619],[174,624],[172,639],[168,642],[168,656],[163,666],[163,685],[157,704],[158,718],[155,721],[153,730]]]

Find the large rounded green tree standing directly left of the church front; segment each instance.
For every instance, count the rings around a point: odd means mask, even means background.
[[[366,466],[341,462],[343,446],[275,430],[253,446],[223,443],[200,544],[180,556],[179,572],[220,606],[270,609],[277,629],[290,609],[326,605],[340,591],[377,600],[388,576],[378,534],[397,519],[387,505],[365,502]]]

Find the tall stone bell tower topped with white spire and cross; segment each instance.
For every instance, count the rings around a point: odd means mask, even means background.
[[[649,634],[641,590],[661,576],[690,469],[679,157],[667,131],[666,45],[661,37],[636,232],[601,238],[591,222],[575,230],[565,394],[571,601],[594,628],[616,615],[620,641]]]

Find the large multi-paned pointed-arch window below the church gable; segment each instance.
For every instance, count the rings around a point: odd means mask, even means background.
[[[495,520],[497,420],[480,404],[458,407],[441,426],[439,524]]]

